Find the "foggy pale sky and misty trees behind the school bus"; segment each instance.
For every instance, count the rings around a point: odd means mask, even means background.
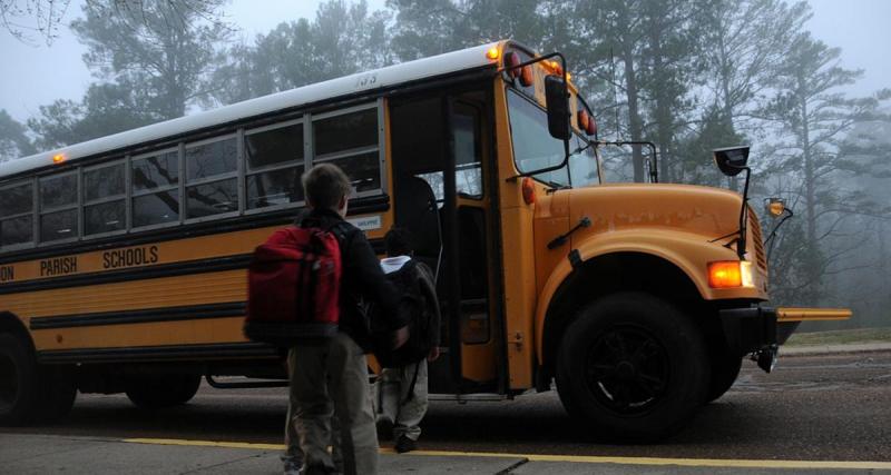
[[[0,161],[515,38],[564,51],[601,137],[654,141],[665,181],[740,189],[709,150],[751,144],[750,202],[795,210],[770,246],[774,301],[856,313],[807,329],[891,325],[891,1],[121,4],[2,3]],[[606,156],[611,178],[643,178],[639,150]]]

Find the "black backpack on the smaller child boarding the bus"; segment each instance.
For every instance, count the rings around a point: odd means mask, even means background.
[[[412,259],[401,268],[386,275],[386,278],[404,294],[403,305],[408,306],[410,319],[409,339],[396,349],[391,347],[392,333],[382,326],[384,319],[376,315],[380,307],[372,305],[369,316],[372,325],[374,356],[384,368],[396,368],[418,363],[430,354],[439,335],[439,301],[432,273],[425,265]]]

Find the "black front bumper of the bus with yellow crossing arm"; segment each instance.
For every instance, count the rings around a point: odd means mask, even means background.
[[[846,320],[852,314],[846,308],[747,307],[726,308],[719,315],[731,354],[752,354],[758,366],[770,373],[776,364],[779,345],[786,343],[799,324]]]

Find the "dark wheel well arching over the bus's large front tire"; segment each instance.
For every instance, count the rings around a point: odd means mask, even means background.
[[[564,333],[585,305],[619,291],[643,291],[675,304],[689,314],[706,334],[715,319],[708,314],[699,290],[674,264],[643,253],[616,253],[586,260],[567,278],[551,298],[545,315],[544,369],[554,374],[554,363]],[[711,321],[708,321],[711,320]],[[717,329],[717,328],[715,328]]]

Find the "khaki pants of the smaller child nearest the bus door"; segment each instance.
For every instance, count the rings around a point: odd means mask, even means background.
[[[418,380],[414,388],[415,368]],[[399,439],[404,435],[412,441],[421,436],[421,419],[427,414],[427,359],[417,365],[407,365],[401,368],[384,368],[378,383],[379,407],[378,417],[383,417],[393,423],[393,436]],[[409,392],[412,392],[409,398]],[[408,400],[405,400],[408,399]]]

